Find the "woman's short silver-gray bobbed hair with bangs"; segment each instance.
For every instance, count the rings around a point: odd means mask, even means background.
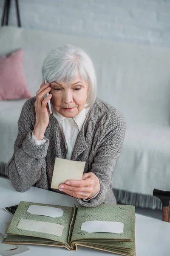
[[[78,73],[91,88],[85,105],[89,108],[96,100],[96,74],[90,57],[83,49],[70,44],[52,49],[42,65],[42,76],[49,83],[55,80],[69,82]]]

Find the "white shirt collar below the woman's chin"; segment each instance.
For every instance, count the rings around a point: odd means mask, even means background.
[[[59,112],[57,112],[52,104],[51,104],[51,108],[52,108],[54,117],[57,119],[57,121],[59,123],[64,119],[74,120],[76,122],[77,126],[78,126],[79,131],[81,130],[82,125],[85,121],[85,117],[86,117],[88,111],[90,110],[90,108],[83,108],[82,111],[80,111],[76,116],[74,116],[74,117],[65,117],[65,116],[62,116]]]

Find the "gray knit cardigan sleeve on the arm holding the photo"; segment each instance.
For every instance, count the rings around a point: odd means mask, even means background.
[[[110,195],[111,188],[113,187],[113,171],[125,138],[126,123],[124,116],[117,111],[116,118],[111,117],[110,121],[106,122],[101,130],[101,137],[103,139],[99,143],[91,166],[91,172],[99,179],[100,190],[96,198],[88,202],[77,198],[79,204],[84,207],[96,207],[104,203]]]

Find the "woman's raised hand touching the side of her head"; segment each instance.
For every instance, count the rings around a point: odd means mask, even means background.
[[[46,93],[49,93],[51,90],[49,82],[45,84],[45,81],[42,81],[40,89],[36,94],[36,101],[34,103],[35,113],[36,113],[36,122],[34,126],[34,135],[37,140],[43,140],[45,130],[49,123],[50,111],[48,108],[48,101],[51,99],[51,93],[45,99],[43,98]]]

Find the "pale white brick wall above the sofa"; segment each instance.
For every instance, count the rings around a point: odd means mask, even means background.
[[[170,0],[19,0],[19,5],[26,28],[170,47]],[[1,0],[0,18],[2,9]],[[17,25],[14,0],[9,25]]]

